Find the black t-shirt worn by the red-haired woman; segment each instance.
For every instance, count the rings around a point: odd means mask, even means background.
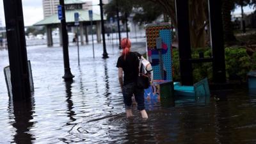
[[[129,52],[125,60],[124,56],[120,56],[118,58],[116,67],[121,67],[124,70],[124,85],[136,82],[136,79],[139,74],[138,56],[141,56],[138,52]]]

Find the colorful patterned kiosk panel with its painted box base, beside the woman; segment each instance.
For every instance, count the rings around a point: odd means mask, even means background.
[[[147,59],[153,68],[154,81],[145,90],[145,99],[160,100],[173,95],[171,29],[168,23],[146,26]]]

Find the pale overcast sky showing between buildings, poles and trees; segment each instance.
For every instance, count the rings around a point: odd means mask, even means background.
[[[93,4],[99,4],[99,0],[84,0],[93,1]],[[24,25],[31,26],[36,22],[44,19],[42,0],[22,0]],[[244,8],[244,12],[251,12],[249,7]],[[93,6],[93,12],[99,13],[99,6]],[[237,8],[234,13],[240,13],[241,8]],[[5,26],[3,0],[0,0],[0,23]]]

